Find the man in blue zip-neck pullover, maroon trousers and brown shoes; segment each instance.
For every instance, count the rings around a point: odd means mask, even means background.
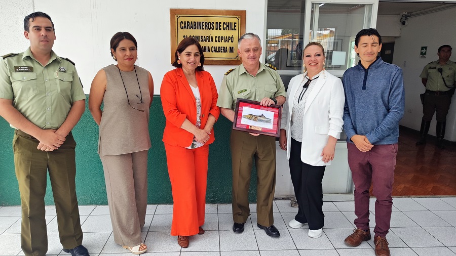
[[[357,66],[347,69],[344,129],[347,134],[348,162],[355,183],[354,233],[345,239],[350,246],[370,240],[369,188],[373,182],[376,255],[390,255],[386,235],[393,206],[399,120],[404,114],[402,69],[378,57],[382,37],[374,28],[362,29],[355,38]]]

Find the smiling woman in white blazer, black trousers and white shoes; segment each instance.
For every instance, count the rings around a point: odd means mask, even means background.
[[[283,105],[280,147],[287,151],[298,212],[291,228],[309,224],[309,236],[318,238],[324,225],[321,181],[331,164],[344,121],[342,81],[324,69],[325,51],[310,42],[303,51],[305,73],[290,80]]]

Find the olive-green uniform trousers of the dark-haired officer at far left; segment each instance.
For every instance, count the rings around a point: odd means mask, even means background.
[[[45,255],[48,236],[45,219],[47,170],[57,212],[60,242],[65,249],[82,244],[83,232],[76,198],[76,164],[73,136],[55,151],[36,149],[39,141],[16,131],[13,138],[14,165],[22,206],[21,248],[26,256]]]

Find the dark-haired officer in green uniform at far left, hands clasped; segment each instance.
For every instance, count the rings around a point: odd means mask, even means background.
[[[22,207],[25,255],[48,250],[44,196],[49,170],[60,242],[71,255],[89,255],[75,191],[75,146],[71,130],[85,110],[86,96],[74,63],[52,46],[54,23],[42,12],[24,19],[30,48],[0,60],[0,115],[15,128],[14,165]]]

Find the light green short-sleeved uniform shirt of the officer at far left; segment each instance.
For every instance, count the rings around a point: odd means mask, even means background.
[[[0,98],[41,129],[58,129],[73,102],[86,99],[74,64],[51,51],[43,65],[25,52],[7,55],[0,62]]]

